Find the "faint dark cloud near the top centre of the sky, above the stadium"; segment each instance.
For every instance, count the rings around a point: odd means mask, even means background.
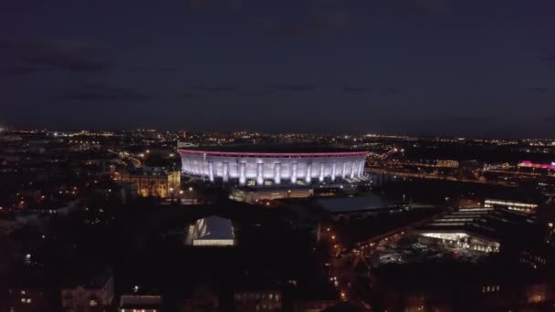
[[[267,17],[257,24],[269,36],[319,36],[326,31],[349,28],[351,26],[351,15],[345,11],[328,11],[300,16],[293,20]]]

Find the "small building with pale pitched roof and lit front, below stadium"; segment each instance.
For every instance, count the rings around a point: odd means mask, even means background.
[[[231,220],[215,215],[189,225],[185,244],[193,246],[233,246],[236,244]]]

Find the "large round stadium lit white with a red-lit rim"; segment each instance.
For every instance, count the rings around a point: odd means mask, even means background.
[[[366,151],[218,147],[179,150],[183,174],[210,182],[241,185],[310,184],[357,179],[364,174]]]

